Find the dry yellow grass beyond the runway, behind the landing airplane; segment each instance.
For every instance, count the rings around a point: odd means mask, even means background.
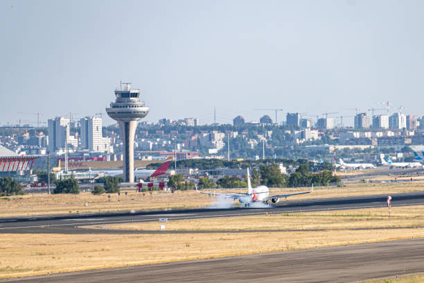
[[[297,191],[308,191],[309,188],[271,189],[271,194],[290,194]],[[217,190],[218,191],[218,190]],[[310,198],[333,198],[345,196],[364,196],[371,194],[404,193],[410,191],[424,191],[424,182],[397,183],[397,184],[354,184],[346,187],[315,188],[312,194],[292,196],[289,200]],[[222,191],[224,192],[224,191]],[[94,196],[90,193],[74,195],[47,195],[28,194],[25,196],[11,196],[0,198],[0,217],[33,216],[42,214],[67,214],[69,212],[105,212],[118,210],[164,209],[164,208],[196,208],[206,207],[214,203],[214,198],[196,191],[170,192],[155,191],[138,193],[128,191],[127,196],[111,194]],[[88,206],[85,206],[88,203]],[[237,204],[237,202],[235,202]]]

